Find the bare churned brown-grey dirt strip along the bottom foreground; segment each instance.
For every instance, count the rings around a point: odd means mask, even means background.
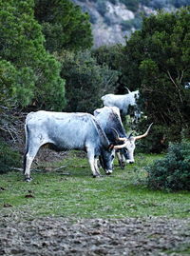
[[[190,255],[190,219],[24,219],[3,215],[0,255]]]

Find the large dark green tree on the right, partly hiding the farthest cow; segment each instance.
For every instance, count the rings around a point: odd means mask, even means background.
[[[182,130],[189,136],[189,73],[189,9],[144,17],[142,30],[126,41],[123,83],[140,89],[142,110],[162,143],[180,139]]]

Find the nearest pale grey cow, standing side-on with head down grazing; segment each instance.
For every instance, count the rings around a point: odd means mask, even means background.
[[[28,113],[26,119],[26,153],[24,173],[30,181],[30,166],[43,145],[58,151],[79,149],[87,152],[93,176],[99,176],[98,157],[106,174],[112,172],[114,146],[111,145],[93,115],[88,113],[65,113],[40,110]]]

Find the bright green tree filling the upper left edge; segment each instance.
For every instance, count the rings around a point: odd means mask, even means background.
[[[0,2],[0,100],[9,98],[17,107],[62,109],[65,81],[60,64],[44,48],[33,9],[33,0]]]

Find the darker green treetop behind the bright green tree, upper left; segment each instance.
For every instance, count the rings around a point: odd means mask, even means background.
[[[86,49],[92,46],[89,16],[69,0],[35,0],[35,18],[42,25],[46,49]]]

